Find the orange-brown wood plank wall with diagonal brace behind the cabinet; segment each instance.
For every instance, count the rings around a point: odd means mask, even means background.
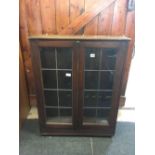
[[[35,96],[29,35],[126,35],[132,40],[124,75],[126,83],[134,47],[134,0],[20,0],[20,43],[29,95]]]

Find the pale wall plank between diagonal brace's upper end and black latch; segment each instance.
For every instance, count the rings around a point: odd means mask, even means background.
[[[127,0],[117,0],[114,7],[112,35],[123,35],[127,13]]]

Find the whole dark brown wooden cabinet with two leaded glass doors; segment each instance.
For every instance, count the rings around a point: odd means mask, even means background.
[[[112,136],[129,38],[31,36],[42,135]]]

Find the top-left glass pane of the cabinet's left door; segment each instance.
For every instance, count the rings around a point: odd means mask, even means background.
[[[42,48],[40,59],[42,68],[56,68],[55,48]]]

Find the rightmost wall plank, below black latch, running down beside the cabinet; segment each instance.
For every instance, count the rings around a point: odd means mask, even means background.
[[[125,64],[122,95],[125,95],[130,65],[131,65],[131,61],[132,61],[134,42],[135,42],[135,11],[128,12],[128,14],[127,14],[125,35],[130,37],[131,41],[129,43],[128,52],[127,52],[127,60],[126,60],[126,64]]]

